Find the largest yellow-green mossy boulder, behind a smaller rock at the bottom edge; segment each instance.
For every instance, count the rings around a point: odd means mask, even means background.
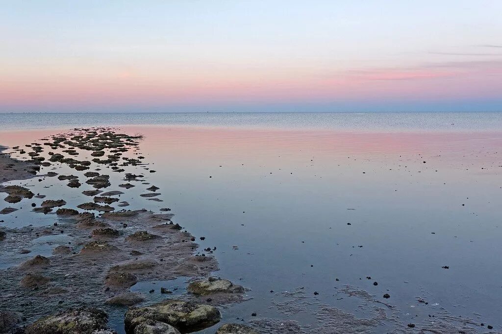
[[[170,324],[181,332],[201,330],[218,323],[219,310],[211,305],[195,304],[170,299],[151,306],[133,308],[126,312],[126,332],[134,334],[135,328],[145,321],[158,321]]]

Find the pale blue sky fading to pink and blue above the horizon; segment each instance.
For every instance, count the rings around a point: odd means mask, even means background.
[[[502,111],[502,1],[27,1],[0,112]]]

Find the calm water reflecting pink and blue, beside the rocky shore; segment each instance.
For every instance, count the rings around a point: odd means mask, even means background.
[[[201,248],[217,248],[215,275],[250,289],[250,300],[222,310],[226,322],[280,318],[330,332],[316,317],[324,304],[371,316],[364,300],[340,298],[348,285],[398,310],[368,331],[434,327],[434,314],[461,316],[474,332],[502,328],[501,113],[0,114],[0,144],[90,125],[145,135],[141,151],[157,171],[149,182],[164,202],[140,198],[141,187],[120,200],[130,209],[169,207],[175,223],[206,237]],[[53,182],[28,181],[69,207],[82,203],[85,189]],[[1,224],[54,219],[18,213],[21,220]],[[52,249],[43,240],[36,247]],[[180,293],[186,286],[162,283]],[[282,292],[298,287],[308,303],[285,311],[291,298]]]

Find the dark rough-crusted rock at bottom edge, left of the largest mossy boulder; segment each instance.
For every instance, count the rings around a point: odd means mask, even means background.
[[[38,319],[26,327],[26,334],[92,334],[106,328],[107,320],[108,315],[97,308],[70,308]]]

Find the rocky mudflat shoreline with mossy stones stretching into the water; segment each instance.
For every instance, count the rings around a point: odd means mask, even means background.
[[[7,203],[26,202],[20,210],[53,215],[54,221],[42,227],[0,227],[3,256],[31,255],[40,237],[62,236],[64,240],[54,245],[50,256],[33,253],[28,260],[0,270],[0,332],[113,333],[109,318],[121,316],[127,333],[188,333],[218,323],[222,305],[244,300],[242,286],[209,276],[218,270],[212,250],[198,251],[195,237],[173,222],[174,215],[165,213],[168,208],[155,213],[114,207],[129,203],[118,203],[122,191],[108,191],[110,175],[103,171],[120,175],[123,184],[118,187],[123,191],[148,184],[146,176],[126,170],[141,166],[155,173],[146,167],[140,140],[141,136],[110,128],[73,129],[13,147],[28,160],[0,155],[2,183],[26,180],[41,167],[50,168],[44,177],[70,188],[83,187],[82,198],[90,200],[69,207],[65,199],[44,199],[44,194],[34,194],[29,187],[0,189],[8,194]],[[76,175],[59,175],[62,166]],[[140,195],[144,200],[162,201],[158,187],[145,191]],[[0,219],[17,210],[3,208]],[[172,291],[162,286],[149,295],[130,289],[138,282],[177,277],[192,282],[186,293],[173,298]],[[152,302],[154,294],[161,294],[162,300]],[[223,324],[217,332],[258,331],[244,324]]]

